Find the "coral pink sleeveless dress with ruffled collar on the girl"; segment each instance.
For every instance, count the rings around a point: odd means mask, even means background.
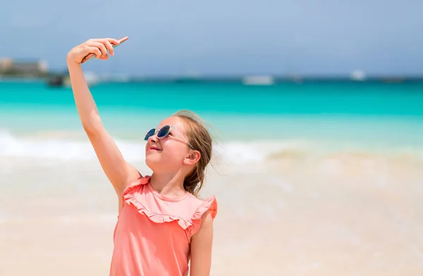
[[[171,199],[156,192],[149,180],[140,178],[123,192],[111,276],[188,275],[190,239],[204,212],[216,217],[214,196],[202,201],[186,192]]]

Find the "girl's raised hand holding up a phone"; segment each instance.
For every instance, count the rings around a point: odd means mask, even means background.
[[[82,58],[89,54],[95,54],[95,58],[108,59],[107,51],[109,50],[111,56],[114,56],[113,46],[118,44],[118,40],[113,38],[89,39],[69,51],[66,60],[80,64]]]

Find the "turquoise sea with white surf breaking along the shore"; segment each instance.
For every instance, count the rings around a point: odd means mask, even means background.
[[[107,129],[129,147],[181,109],[202,116],[225,152],[245,161],[292,147],[419,155],[423,146],[423,82],[105,82],[91,90]],[[0,82],[0,113],[0,155],[36,156],[41,147],[63,156],[66,143],[86,142],[70,88]]]

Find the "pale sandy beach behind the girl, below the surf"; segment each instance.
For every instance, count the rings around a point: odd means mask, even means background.
[[[117,200],[97,162],[0,166],[0,275],[107,275]],[[212,275],[423,275],[422,168],[352,153],[209,168]]]

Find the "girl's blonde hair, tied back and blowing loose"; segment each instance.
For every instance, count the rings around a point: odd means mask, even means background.
[[[198,196],[204,184],[206,167],[212,160],[212,135],[207,130],[200,116],[192,111],[178,111],[173,116],[183,120],[188,142],[190,142],[192,149],[200,151],[201,154],[194,170],[185,177],[183,182],[183,187],[186,191]]]

